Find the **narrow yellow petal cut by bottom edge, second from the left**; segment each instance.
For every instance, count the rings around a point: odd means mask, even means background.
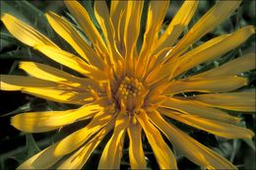
[[[72,154],[68,159],[64,160],[58,169],[82,169],[93,151],[96,149],[96,146],[102,141],[104,136],[109,133],[113,126],[113,121],[105,125],[90,142],[86,142],[86,144],[78,151]]]

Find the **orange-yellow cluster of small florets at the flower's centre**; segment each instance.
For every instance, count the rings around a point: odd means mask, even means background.
[[[146,89],[137,79],[125,77],[118,87],[115,99],[122,111],[133,113],[142,107]],[[124,108],[125,107],[125,108]]]

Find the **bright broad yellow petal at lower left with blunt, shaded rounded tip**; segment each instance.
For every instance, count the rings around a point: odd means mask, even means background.
[[[92,118],[102,107],[88,104],[78,109],[66,111],[28,112],[15,115],[11,124],[26,133],[42,133],[59,129],[76,121]]]

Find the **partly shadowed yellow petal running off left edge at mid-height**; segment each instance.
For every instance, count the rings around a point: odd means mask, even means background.
[[[85,104],[95,98],[86,90],[77,91],[77,88],[67,85],[56,84],[31,77],[1,75],[2,90],[22,90],[41,98],[70,103]]]

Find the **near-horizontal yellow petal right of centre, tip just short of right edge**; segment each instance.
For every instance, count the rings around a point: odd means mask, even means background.
[[[235,76],[207,77],[203,79],[193,79],[191,77],[185,80],[171,82],[163,93],[172,95],[188,91],[225,92],[244,85],[247,85],[247,79]]]

